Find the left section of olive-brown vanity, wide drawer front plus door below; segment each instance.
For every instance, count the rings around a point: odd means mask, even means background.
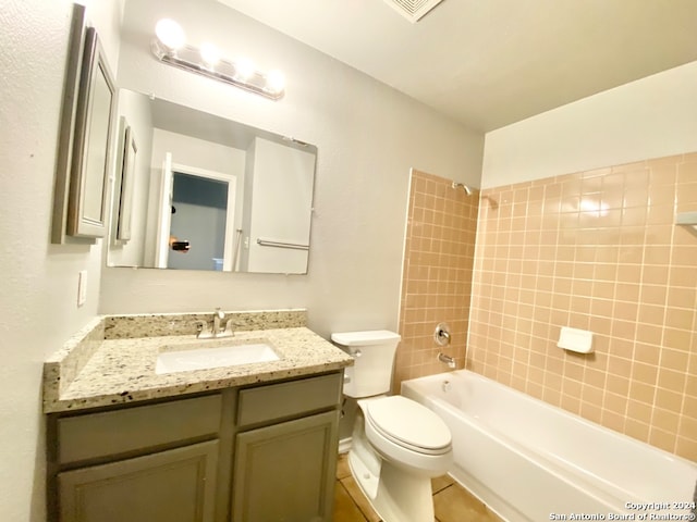
[[[213,522],[222,403],[216,394],[49,422],[52,520]]]

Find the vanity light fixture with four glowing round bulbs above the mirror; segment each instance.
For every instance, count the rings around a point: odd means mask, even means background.
[[[218,79],[242,89],[278,100],[285,94],[285,78],[280,71],[257,71],[250,60],[228,60],[218,48],[205,42],[200,48],[186,44],[182,27],[170,18],[155,26],[156,38],[150,45],[152,54],[169,65]]]

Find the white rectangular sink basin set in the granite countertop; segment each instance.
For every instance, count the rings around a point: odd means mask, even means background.
[[[215,347],[201,345],[192,349],[160,352],[157,356],[155,373],[189,372],[280,360],[273,348],[262,340],[248,344],[217,344]]]

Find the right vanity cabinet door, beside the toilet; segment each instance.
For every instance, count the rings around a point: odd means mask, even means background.
[[[339,411],[241,433],[233,522],[331,521]]]

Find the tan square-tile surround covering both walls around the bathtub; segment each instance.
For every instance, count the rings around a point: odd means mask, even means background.
[[[398,389],[447,370],[447,320],[458,358],[469,328],[468,369],[697,460],[697,233],[674,225],[697,211],[697,153],[485,189],[478,225],[450,183],[412,178]],[[557,348],[563,325],[591,330],[595,353]]]

